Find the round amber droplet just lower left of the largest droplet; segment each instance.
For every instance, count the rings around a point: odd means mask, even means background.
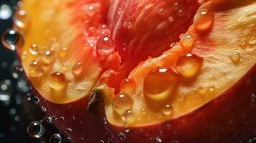
[[[118,94],[112,101],[112,107],[118,114],[124,114],[133,107],[133,99],[128,94]]]

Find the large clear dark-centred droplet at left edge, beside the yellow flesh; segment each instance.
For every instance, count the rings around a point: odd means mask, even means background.
[[[1,41],[6,49],[15,51],[16,48],[22,47],[24,39],[14,29],[7,29],[1,36]]]

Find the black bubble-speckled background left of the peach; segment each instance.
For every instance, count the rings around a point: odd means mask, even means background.
[[[2,6],[10,6],[13,10],[17,0],[0,0]],[[12,19],[1,19],[0,35],[11,27]],[[19,61],[15,54],[0,45],[0,143],[34,143],[49,142],[49,137],[57,133],[51,124],[45,124],[45,134],[40,139],[34,139],[27,134],[27,125],[44,117],[44,112],[34,104],[29,97],[29,87],[22,72],[16,70]],[[32,95],[30,95],[32,96]],[[10,97],[6,99],[4,97]],[[29,101],[29,98],[31,99]]]

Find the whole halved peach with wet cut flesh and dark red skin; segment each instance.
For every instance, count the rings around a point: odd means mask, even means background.
[[[72,142],[227,143],[254,132],[255,0],[23,2],[17,53]]]

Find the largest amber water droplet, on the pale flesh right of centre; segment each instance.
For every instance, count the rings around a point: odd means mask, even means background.
[[[143,92],[153,100],[168,98],[178,82],[176,73],[167,67],[158,67],[148,73],[144,80]]]

